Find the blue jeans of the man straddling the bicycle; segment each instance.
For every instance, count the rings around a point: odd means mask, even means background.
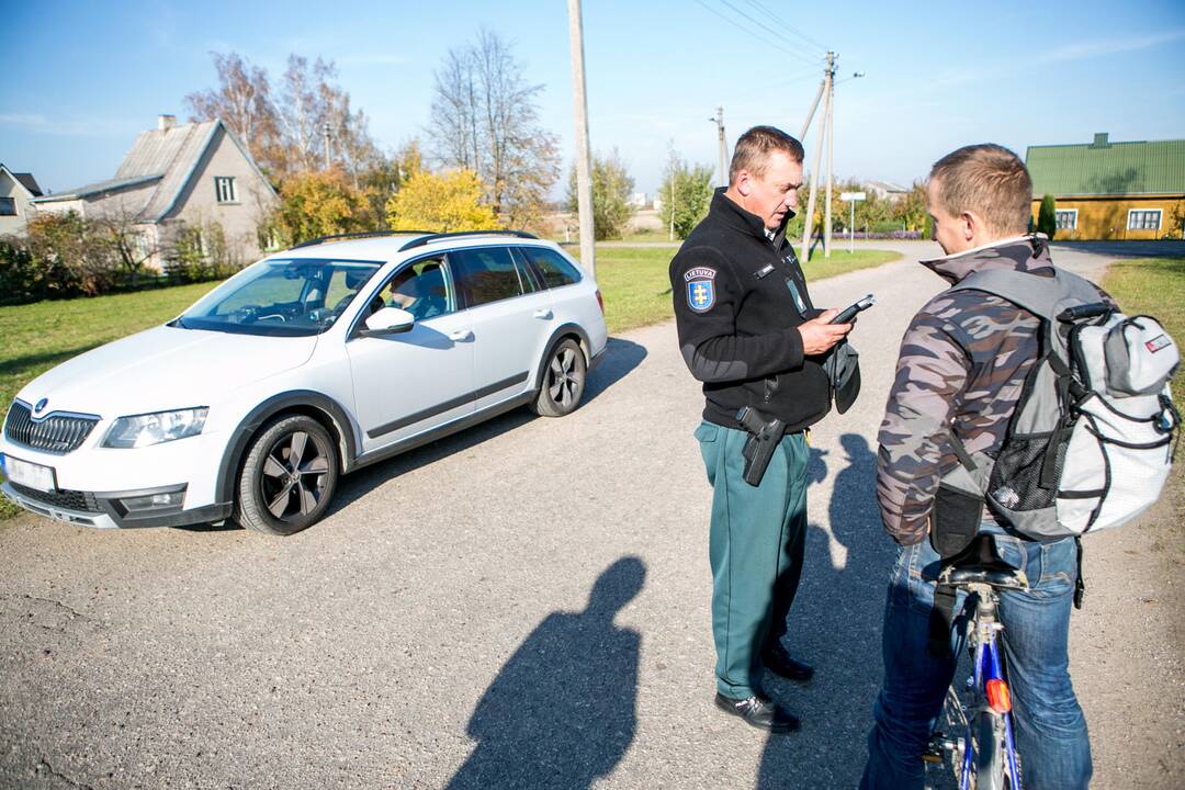
[[[1072,538],[1042,544],[998,534],[995,540],[1004,559],[1024,571],[1031,585],[1027,592],[1000,592],[1024,786],[1084,789],[1091,775],[1090,741],[1070,683],[1066,646],[1077,547]],[[954,635],[947,655],[927,649],[937,569],[939,555],[929,540],[902,547],[897,557],[885,603],[885,676],[872,709],[861,788],[922,788],[922,752],[959,660]],[[956,612],[965,598],[959,595]]]

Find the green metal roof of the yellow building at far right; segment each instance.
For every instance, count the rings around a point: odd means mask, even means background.
[[[1030,146],[1033,197],[1043,194],[1185,194],[1185,140]]]

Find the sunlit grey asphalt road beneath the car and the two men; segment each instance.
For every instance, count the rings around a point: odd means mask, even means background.
[[[769,682],[801,732],[711,704],[702,400],[668,323],[611,340],[570,417],[514,412],[360,471],[292,538],[0,524],[0,786],[853,786],[893,557],[876,429],[901,334],[942,285],[915,263],[936,246],[902,249],[812,289],[879,304],[854,334],[859,403],[814,431],[790,634],[818,673]],[[1071,670],[1095,786],[1185,785],[1166,524],[1088,542]]]

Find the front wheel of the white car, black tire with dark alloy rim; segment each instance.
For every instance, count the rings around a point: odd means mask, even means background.
[[[305,415],[280,417],[248,445],[235,521],[269,535],[297,533],[325,515],[337,486],[338,454],[325,426]]]

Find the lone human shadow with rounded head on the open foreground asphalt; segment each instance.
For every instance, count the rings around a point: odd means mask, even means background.
[[[450,790],[578,790],[614,769],[636,728],[641,637],[613,619],[645,578],[640,559],[622,558],[584,611],[552,612],[526,637],[469,719],[478,745]]]

